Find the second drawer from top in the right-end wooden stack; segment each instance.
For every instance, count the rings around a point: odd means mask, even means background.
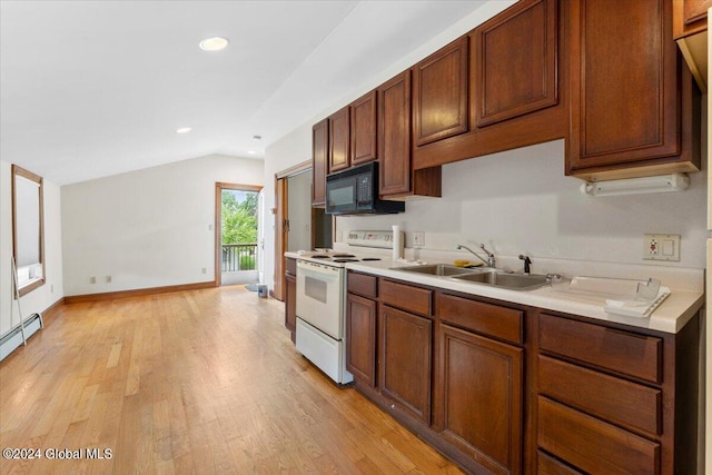
[[[661,434],[662,394],[546,356],[538,357],[538,390],[613,423]]]

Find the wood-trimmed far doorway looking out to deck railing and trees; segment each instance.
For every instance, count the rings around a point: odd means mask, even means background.
[[[261,187],[216,184],[215,280],[218,286],[259,281]]]

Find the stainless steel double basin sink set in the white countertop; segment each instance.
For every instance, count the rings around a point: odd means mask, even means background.
[[[514,274],[493,268],[468,269],[449,264],[431,264],[413,267],[393,267],[404,273],[424,274],[436,277],[448,277],[456,280],[501,287],[510,290],[534,290],[547,284],[546,276],[538,274]]]

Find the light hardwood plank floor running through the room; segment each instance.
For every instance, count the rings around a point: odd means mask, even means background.
[[[0,363],[0,447],[41,455],[0,472],[461,473],[288,335],[243,286],[62,306]]]

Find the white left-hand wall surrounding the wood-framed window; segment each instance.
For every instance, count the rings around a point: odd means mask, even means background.
[[[29,170],[33,171],[33,170]],[[11,165],[0,161],[0,336],[19,324],[18,306],[12,303],[11,266],[12,256],[12,171]],[[60,188],[43,180],[44,192],[44,271],[46,283],[20,299],[22,317],[42,313],[61,299],[62,288],[62,241]],[[10,307],[12,304],[12,314]]]

